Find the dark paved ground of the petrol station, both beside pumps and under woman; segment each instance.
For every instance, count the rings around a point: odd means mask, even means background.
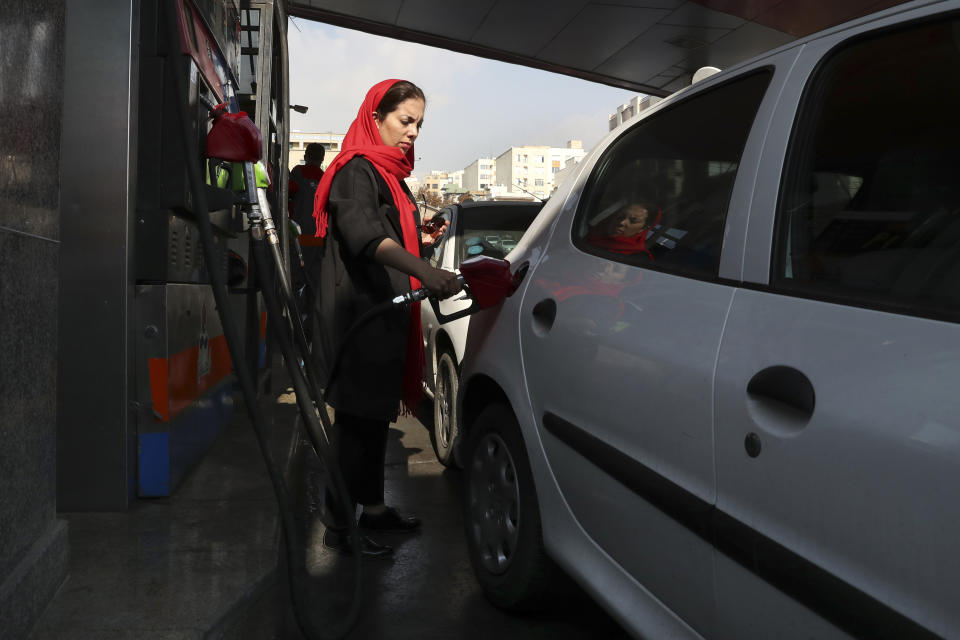
[[[283,380],[284,378],[281,378]],[[322,465],[293,424],[284,385],[264,397],[271,451],[299,486],[310,615],[329,630],[349,607],[354,564],[321,544]],[[363,606],[351,640],[626,638],[576,591],[548,610],[498,610],[483,597],[467,555],[460,472],[436,459],[417,420],[391,425],[387,503],[423,519],[415,534],[380,534],[392,559],[364,559]],[[242,410],[174,495],[138,500],[123,513],[61,513],[69,523],[70,575],[31,640],[297,640],[278,564],[277,507]],[[0,630],[0,638],[7,640]],[[13,640],[13,639],[11,639]]]

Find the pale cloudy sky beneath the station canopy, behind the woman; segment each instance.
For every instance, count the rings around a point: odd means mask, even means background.
[[[346,133],[367,90],[386,78],[418,85],[427,96],[413,175],[457,171],[511,146],[588,151],[607,119],[635,92],[446,49],[374,36],[302,19],[288,29],[291,129]]]

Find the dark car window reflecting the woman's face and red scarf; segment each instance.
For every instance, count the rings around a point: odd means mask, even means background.
[[[740,156],[770,81],[738,78],[635,125],[587,184],[574,244],[612,260],[716,276]]]

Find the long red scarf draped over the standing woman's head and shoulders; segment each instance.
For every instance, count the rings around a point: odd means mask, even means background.
[[[403,247],[413,255],[420,257],[420,232],[414,217],[416,207],[410,201],[406,191],[400,186],[400,180],[413,171],[413,159],[416,157],[413,145],[404,153],[399,147],[388,147],[380,138],[380,130],[373,119],[384,94],[400,80],[384,80],[373,85],[367,91],[357,117],[347,130],[340,153],[327,167],[317,192],[313,197],[313,217],[317,221],[317,236],[327,235],[329,213],[327,200],[330,197],[330,184],[333,177],[354,156],[363,156],[373,164],[377,173],[390,188],[393,203],[400,212],[400,230],[403,232]],[[410,288],[419,289],[420,281],[410,276]],[[403,371],[403,404],[407,413],[416,414],[423,397],[422,376],[426,359],[423,354],[423,331],[420,327],[420,303],[410,305],[410,323],[407,332],[407,357]]]

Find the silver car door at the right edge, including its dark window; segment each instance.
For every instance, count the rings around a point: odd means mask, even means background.
[[[807,45],[772,127],[717,366],[718,637],[960,637],[960,23],[905,17]]]

